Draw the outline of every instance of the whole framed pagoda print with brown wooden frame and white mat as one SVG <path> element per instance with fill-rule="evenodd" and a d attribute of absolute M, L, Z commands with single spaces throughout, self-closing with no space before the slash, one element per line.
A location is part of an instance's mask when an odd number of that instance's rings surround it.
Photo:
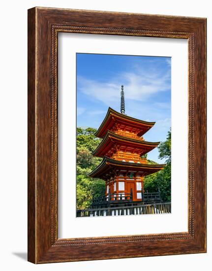
<path fill-rule="evenodd" d="M 206 19 L 28 12 L 28 260 L 206 252 Z"/>

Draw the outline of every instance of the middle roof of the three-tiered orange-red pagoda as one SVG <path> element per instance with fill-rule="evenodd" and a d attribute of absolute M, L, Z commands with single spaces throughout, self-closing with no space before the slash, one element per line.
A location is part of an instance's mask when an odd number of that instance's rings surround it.
<path fill-rule="evenodd" d="M 144 155 L 157 147 L 159 143 L 160 142 L 148 142 L 142 139 L 127 137 L 107 131 L 107 134 L 104 136 L 92 155 L 104 157 L 109 150 L 115 147 L 115 144 L 119 146 L 132 147 L 133 149 L 137 149 L 140 152 L 140 155 Z"/>

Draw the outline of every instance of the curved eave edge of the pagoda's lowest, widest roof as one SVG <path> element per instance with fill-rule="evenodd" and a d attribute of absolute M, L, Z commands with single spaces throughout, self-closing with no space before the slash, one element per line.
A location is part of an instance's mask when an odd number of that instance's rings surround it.
<path fill-rule="evenodd" d="M 107 171 L 110 170 L 111 167 L 115 167 L 117 169 L 128 169 L 128 170 L 137 170 L 137 171 L 143 171 L 144 175 L 149 175 L 151 173 L 155 173 L 161 169 L 164 169 L 166 164 L 155 164 L 155 165 L 149 165 L 149 164 L 137 164 L 137 163 L 130 163 L 130 162 L 123 162 L 114 160 L 108 157 L 104 157 L 102 162 L 88 175 L 90 177 L 99 177 L 102 178 Z M 145 174 L 146 173 L 146 174 Z"/>

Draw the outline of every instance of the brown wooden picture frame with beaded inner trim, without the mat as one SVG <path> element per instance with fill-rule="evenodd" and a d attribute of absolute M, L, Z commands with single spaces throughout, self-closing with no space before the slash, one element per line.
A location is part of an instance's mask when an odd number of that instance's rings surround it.
<path fill-rule="evenodd" d="M 188 40 L 188 232 L 58 238 L 58 33 Z M 206 252 L 206 19 L 34 7 L 28 11 L 28 260 Z"/>

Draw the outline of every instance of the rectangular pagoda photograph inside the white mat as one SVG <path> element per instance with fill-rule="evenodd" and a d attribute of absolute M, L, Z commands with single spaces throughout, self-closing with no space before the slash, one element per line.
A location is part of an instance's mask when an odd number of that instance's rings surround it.
<path fill-rule="evenodd" d="M 76 54 L 76 216 L 171 213 L 171 57 Z"/>

